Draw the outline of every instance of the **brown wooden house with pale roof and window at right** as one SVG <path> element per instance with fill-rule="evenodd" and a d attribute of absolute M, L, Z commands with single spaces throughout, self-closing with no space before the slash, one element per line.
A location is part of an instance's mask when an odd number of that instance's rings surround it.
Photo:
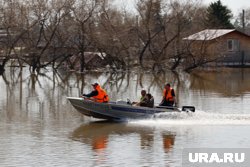
<path fill-rule="evenodd" d="M 238 30 L 206 29 L 183 40 L 188 43 L 191 54 L 206 54 L 207 58 L 215 60 L 213 64 L 233 67 L 250 65 L 250 36 Z"/>

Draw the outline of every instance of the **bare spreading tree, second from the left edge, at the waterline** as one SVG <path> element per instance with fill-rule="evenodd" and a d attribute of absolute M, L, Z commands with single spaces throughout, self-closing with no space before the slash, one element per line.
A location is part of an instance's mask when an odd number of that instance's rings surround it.
<path fill-rule="evenodd" d="M 31 4 L 33 18 L 38 21 L 31 31 L 27 33 L 25 46 L 30 52 L 30 61 L 24 59 L 32 67 L 34 72 L 36 69 L 46 67 L 54 59 L 48 57 L 53 47 L 59 48 L 60 44 L 56 39 L 56 34 L 59 30 L 60 23 L 66 17 L 70 10 L 68 9 L 72 1 L 38 1 Z M 56 57 L 58 58 L 58 57 Z M 41 61 L 47 63 L 42 64 Z"/>

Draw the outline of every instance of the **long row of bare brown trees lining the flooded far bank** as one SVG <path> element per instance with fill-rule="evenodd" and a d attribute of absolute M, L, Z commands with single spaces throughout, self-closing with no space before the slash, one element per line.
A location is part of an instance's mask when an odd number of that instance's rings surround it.
<path fill-rule="evenodd" d="M 207 28 L 234 28 L 231 11 L 220 1 L 204 6 L 200 0 L 137 0 L 136 12 L 113 3 L 0 0 L 1 73 L 10 62 L 32 72 L 48 65 L 74 68 L 72 57 L 83 71 L 86 52 L 105 54 L 105 65 L 114 69 L 190 71 L 215 58 L 193 54 L 184 37 Z"/>

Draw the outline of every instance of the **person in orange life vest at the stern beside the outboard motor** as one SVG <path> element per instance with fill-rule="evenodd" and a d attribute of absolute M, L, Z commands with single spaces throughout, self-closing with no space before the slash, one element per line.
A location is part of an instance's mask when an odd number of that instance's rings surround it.
<path fill-rule="evenodd" d="M 163 98 L 160 106 L 177 106 L 174 89 L 167 83 L 164 87 Z"/>

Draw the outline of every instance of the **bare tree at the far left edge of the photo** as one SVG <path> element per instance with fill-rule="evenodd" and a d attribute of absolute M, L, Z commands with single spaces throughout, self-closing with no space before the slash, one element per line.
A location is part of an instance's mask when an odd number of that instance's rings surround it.
<path fill-rule="evenodd" d="M 22 26 L 20 23 L 20 17 L 25 12 L 25 7 L 18 1 L 1 1 L 0 5 L 0 54 L 2 64 L 0 65 L 0 72 L 4 72 L 6 63 L 15 58 L 21 51 L 19 41 L 23 37 L 23 31 L 20 29 Z M 24 24 L 24 23 L 22 23 Z"/>

